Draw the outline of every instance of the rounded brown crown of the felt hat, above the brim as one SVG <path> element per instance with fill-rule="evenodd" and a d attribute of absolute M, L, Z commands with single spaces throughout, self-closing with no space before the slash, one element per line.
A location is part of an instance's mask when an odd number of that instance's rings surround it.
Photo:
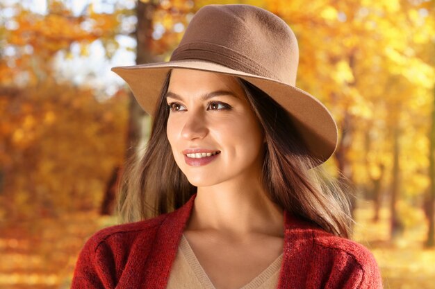
<path fill-rule="evenodd" d="M 272 12 L 208 5 L 190 21 L 172 60 L 205 60 L 295 86 L 299 50 L 293 31 Z"/>

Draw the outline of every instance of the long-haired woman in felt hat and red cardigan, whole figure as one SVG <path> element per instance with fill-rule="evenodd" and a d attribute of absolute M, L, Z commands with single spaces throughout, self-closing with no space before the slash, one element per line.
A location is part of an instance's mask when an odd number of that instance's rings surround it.
<path fill-rule="evenodd" d="M 336 123 L 295 87 L 298 57 L 272 13 L 205 6 L 170 62 L 114 69 L 154 125 L 124 174 L 128 223 L 88 240 L 72 288 L 381 288 L 319 167 Z"/>

